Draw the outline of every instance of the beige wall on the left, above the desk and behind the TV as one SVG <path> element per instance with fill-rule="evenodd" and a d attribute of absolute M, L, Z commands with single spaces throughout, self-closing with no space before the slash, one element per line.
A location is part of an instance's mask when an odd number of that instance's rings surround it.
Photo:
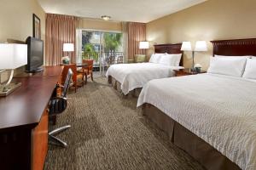
<path fill-rule="evenodd" d="M 26 41 L 32 36 L 32 14 L 41 20 L 41 38 L 45 37 L 45 13 L 37 0 L 1 0 L 0 5 L 0 42 L 7 38 Z M 19 69 L 24 70 L 24 67 Z M 6 80 L 7 73 L 3 73 L 0 82 Z"/>

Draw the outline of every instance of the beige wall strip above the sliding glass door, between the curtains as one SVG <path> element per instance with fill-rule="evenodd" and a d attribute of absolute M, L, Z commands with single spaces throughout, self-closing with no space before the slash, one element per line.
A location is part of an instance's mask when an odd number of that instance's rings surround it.
<path fill-rule="evenodd" d="M 122 24 L 117 21 L 93 20 L 93 19 L 80 19 L 79 28 L 107 30 L 107 31 L 121 31 Z"/>

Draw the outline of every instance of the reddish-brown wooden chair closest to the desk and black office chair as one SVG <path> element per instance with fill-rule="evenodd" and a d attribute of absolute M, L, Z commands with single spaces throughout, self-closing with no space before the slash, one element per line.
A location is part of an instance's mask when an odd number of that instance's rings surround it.
<path fill-rule="evenodd" d="M 76 64 L 70 64 L 70 65 L 64 65 L 64 69 L 62 71 L 61 75 L 61 84 L 63 85 L 65 83 L 65 79 L 67 77 L 68 69 L 71 69 L 73 71 L 73 88 L 75 88 L 75 93 L 77 92 L 78 88 L 78 71 L 77 71 L 77 65 Z"/>

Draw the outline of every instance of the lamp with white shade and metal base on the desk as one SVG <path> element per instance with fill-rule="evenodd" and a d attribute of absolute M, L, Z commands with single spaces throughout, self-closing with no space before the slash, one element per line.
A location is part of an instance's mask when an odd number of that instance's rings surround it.
<path fill-rule="evenodd" d="M 21 82 L 11 83 L 16 68 L 27 64 L 27 45 L 15 43 L 0 44 L 0 72 L 10 70 L 8 82 L 0 85 L 0 96 L 8 94 L 19 88 Z"/>

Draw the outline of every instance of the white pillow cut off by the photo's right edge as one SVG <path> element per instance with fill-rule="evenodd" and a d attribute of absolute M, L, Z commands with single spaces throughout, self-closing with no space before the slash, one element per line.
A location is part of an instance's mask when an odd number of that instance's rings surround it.
<path fill-rule="evenodd" d="M 256 58 L 247 59 L 247 65 L 242 77 L 256 79 Z"/>

